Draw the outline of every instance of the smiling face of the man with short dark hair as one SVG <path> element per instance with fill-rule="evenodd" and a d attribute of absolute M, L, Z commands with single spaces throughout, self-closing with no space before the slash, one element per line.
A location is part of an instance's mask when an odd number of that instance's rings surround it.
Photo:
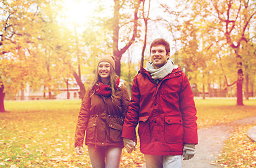
<path fill-rule="evenodd" d="M 166 53 L 165 45 L 155 45 L 151 48 L 151 62 L 155 69 L 159 69 L 166 64 L 169 53 Z"/>

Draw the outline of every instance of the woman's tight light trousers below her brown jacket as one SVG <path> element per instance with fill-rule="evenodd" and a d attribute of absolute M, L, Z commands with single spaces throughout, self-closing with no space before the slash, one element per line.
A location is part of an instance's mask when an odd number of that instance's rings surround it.
<path fill-rule="evenodd" d="M 88 146 L 91 165 L 94 168 L 118 168 L 122 156 L 122 148 Z"/>

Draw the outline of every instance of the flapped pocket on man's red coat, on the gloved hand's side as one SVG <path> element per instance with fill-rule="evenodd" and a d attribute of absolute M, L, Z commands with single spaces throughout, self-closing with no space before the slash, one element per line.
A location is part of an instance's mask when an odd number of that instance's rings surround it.
<path fill-rule="evenodd" d="M 184 137 L 184 128 L 181 118 L 165 116 L 165 141 L 167 144 L 181 143 Z"/>

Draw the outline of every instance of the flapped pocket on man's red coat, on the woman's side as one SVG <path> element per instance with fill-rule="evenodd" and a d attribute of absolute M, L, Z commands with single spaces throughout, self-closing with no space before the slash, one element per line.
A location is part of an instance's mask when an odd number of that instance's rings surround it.
<path fill-rule="evenodd" d="M 139 117 L 138 134 L 142 143 L 149 143 L 151 141 L 151 131 L 149 130 L 148 116 Z"/>

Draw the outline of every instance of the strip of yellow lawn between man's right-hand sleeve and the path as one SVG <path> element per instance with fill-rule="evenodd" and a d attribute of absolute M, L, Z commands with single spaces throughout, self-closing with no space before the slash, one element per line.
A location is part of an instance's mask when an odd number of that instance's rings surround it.
<path fill-rule="evenodd" d="M 245 106 L 236 106 L 236 99 L 196 99 L 198 128 L 256 116 L 256 99 L 243 100 Z"/>

